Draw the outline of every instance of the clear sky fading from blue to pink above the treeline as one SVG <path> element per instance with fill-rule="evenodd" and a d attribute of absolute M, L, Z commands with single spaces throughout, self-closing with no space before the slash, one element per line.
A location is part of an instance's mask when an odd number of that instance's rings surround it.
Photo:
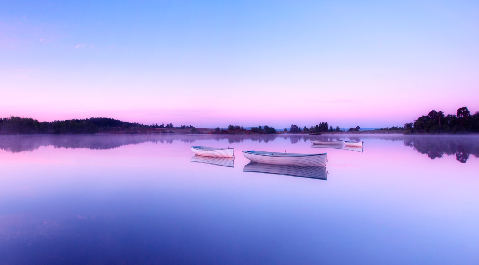
<path fill-rule="evenodd" d="M 479 1 L 2 1 L 0 116 L 402 126 L 479 110 Z"/>

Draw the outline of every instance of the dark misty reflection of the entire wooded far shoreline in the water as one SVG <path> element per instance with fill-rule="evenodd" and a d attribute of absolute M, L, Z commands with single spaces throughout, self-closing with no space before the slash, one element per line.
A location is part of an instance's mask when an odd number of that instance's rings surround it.
<path fill-rule="evenodd" d="M 243 143 L 245 141 L 269 143 L 277 137 L 282 137 L 291 144 L 304 144 L 309 139 L 327 141 L 352 140 L 365 141 L 366 146 L 369 136 L 343 135 L 288 135 L 288 134 L 262 134 L 262 135 L 209 135 L 209 134 L 96 134 L 96 135 L 18 135 L 0 136 L 0 150 L 11 153 L 34 151 L 41 146 L 55 148 L 86 148 L 92 150 L 113 149 L 129 144 L 173 144 L 174 141 L 192 144 L 198 140 L 228 141 L 229 144 Z M 456 160 L 466 163 L 470 157 L 479 158 L 479 137 L 472 136 L 434 136 L 434 135 L 374 135 L 371 139 L 386 141 L 402 141 L 405 146 L 412 147 L 421 154 L 431 159 L 443 158 L 444 155 L 456 155 Z M 303 140 L 303 141 L 301 141 Z M 215 144 L 213 144 L 214 146 Z M 280 144 L 280 143 L 278 143 Z M 308 146 L 309 147 L 309 146 Z"/>

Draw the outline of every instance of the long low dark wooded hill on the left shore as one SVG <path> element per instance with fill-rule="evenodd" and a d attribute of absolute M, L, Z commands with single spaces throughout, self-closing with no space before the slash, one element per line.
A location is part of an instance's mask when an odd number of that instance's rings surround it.
<path fill-rule="evenodd" d="M 111 118 L 72 119 L 39 122 L 32 118 L 10 117 L 0 119 L 0 134 L 92 134 L 123 130 L 136 133 L 151 126 L 119 121 Z"/>

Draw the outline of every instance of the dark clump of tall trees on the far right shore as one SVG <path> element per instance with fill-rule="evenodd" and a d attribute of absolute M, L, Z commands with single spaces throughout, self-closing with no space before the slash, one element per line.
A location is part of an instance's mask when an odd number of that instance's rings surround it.
<path fill-rule="evenodd" d="M 471 115 L 467 107 L 456 115 L 444 115 L 443 111 L 429 111 L 414 122 L 404 124 L 405 134 L 411 133 L 479 133 L 479 111 Z"/>

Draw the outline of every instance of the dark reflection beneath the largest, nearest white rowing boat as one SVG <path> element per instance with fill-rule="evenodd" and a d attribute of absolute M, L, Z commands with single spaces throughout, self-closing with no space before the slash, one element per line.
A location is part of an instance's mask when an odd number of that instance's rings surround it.
<path fill-rule="evenodd" d="M 309 177 L 326 180 L 325 166 L 284 166 L 250 162 L 244 166 L 243 172 L 267 173 L 293 177 Z"/>

